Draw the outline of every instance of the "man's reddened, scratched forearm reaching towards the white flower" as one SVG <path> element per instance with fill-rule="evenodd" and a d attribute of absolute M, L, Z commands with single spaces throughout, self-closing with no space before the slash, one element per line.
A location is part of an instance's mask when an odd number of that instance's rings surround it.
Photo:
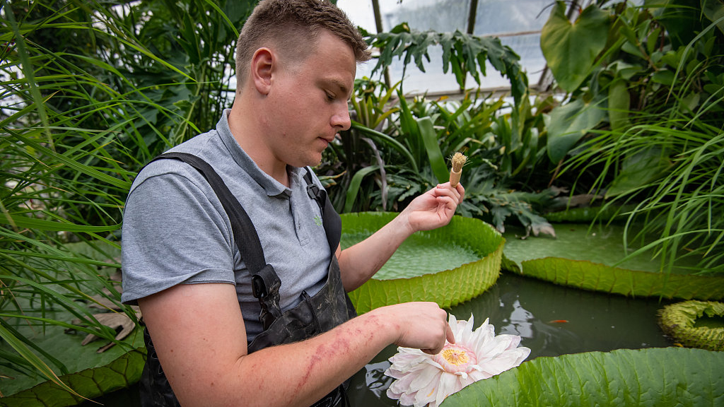
<path fill-rule="evenodd" d="M 310 406 L 397 340 L 394 332 L 371 311 L 311 339 L 240 356 L 216 379 L 169 382 L 182 406 Z"/>

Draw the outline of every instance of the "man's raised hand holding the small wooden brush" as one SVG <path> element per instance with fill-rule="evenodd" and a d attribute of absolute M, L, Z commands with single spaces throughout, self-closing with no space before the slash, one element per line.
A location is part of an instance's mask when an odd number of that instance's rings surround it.
<path fill-rule="evenodd" d="M 452 188 L 450 182 L 439 184 L 413 199 L 400 213 L 400 220 L 406 220 L 411 233 L 445 226 L 450 223 L 464 196 L 463 185 L 458 184 Z"/>

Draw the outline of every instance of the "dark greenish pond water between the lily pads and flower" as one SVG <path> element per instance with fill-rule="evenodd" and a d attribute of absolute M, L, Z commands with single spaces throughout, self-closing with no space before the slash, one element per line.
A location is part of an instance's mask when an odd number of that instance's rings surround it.
<path fill-rule="evenodd" d="M 473 314 L 475 327 L 489 318 L 496 335 L 520 335 L 521 346 L 531 348 L 526 359 L 531 360 L 567 353 L 673 345 L 656 322 L 657 311 L 669 302 L 593 293 L 504 273 L 492 288 L 452 307 L 450 312 L 458 319 L 469 319 Z M 392 379 L 384 376 L 384 370 L 390 366 L 387 358 L 396 351 L 395 346 L 385 348 L 353 376 L 353 406 L 397 406 L 385 394 Z M 139 406 L 137 394 L 138 388 L 133 386 L 97 401 L 109 407 Z"/>

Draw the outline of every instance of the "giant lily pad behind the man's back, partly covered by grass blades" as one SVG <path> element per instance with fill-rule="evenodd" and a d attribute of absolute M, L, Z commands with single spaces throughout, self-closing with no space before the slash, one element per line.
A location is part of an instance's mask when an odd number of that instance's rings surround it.
<path fill-rule="evenodd" d="M 72 250 L 67 259 L 81 259 L 97 266 L 114 261 L 108 257 L 119 256 L 119 249 L 101 242 L 94 242 L 93 248 L 87 243 L 68 245 Z M 101 253 L 101 251 L 103 253 Z M 58 259 L 58 268 L 63 267 Z M 111 278 L 115 270 L 109 268 L 98 269 L 98 274 Z M 80 280 L 80 278 L 79 278 Z M 88 282 L 89 286 L 93 281 Z M 98 280 L 98 284 L 101 280 Z M 43 293 L 56 293 L 60 297 L 66 291 L 54 285 L 48 285 Z M 102 286 L 99 286 L 100 290 Z M 90 290 L 89 293 L 96 292 Z M 101 290 L 108 293 L 107 290 Z M 40 297 L 40 295 L 38 295 Z M 107 298 L 106 298 L 107 297 Z M 33 369 L 25 368 L 20 363 L 20 356 L 15 356 L 14 348 L 9 343 L 0 343 L 0 353 L 7 360 L 18 361 L 12 364 L 14 369 L 4 369 L 0 375 L 0 390 L 4 397 L 0 398 L 0 406 L 75 406 L 83 398 L 96 398 L 105 393 L 118 390 L 137 382 L 143 369 L 145 348 L 141 330 L 127 314 L 118 311 L 119 298 L 114 295 L 97 297 L 97 301 L 65 301 L 60 305 L 51 301 L 39 301 L 34 296 L 25 295 L 16 291 L 14 295 L 17 306 L 22 310 L 22 317 L 14 316 L 12 307 L 8 306 L 3 312 L 4 327 L 13 330 L 15 336 L 27 338 L 36 349 L 42 349 L 36 356 L 39 364 L 46 364 L 48 369 L 54 369 L 62 383 L 72 389 L 61 387 L 54 382 L 46 380 L 47 377 Z M 114 298 L 110 301 L 109 298 Z M 72 304 L 72 306 L 70 306 Z M 64 306 L 62 306 L 64 305 Z M 96 312 L 103 310 L 104 312 Z M 114 342 L 108 339 L 93 340 L 98 333 L 97 328 L 87 327 L 87 324 L 76 322 L 79 316 L 94 318 L 100 324 L 109 327 L 109 333 L 123 327 L 122 333 L 110 335 L 116 337 Z M 92 316 L 91 316 L 92 315 Z M 88 328 L 88 330 L 84 330 Z M 108 335 L 106 335 L 107 337 Z M 59 371 L 59 372 L 58 372 Z"/>

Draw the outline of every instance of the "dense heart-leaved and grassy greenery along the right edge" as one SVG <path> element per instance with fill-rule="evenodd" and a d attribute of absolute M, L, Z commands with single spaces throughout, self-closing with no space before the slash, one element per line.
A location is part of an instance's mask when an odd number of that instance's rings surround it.
<path fill-rule="evenodd" d="M 686 256 L 721 272 L 724 5 L 650 3 L 592 4 L 573 23 L 555 5 L 541 47 L 567 94 L 550 112 L 547 154 L 559 176 L 582 175 L 583 192 L 632 204 L 627 243 L 647 242 L 662 269 Z"/>

